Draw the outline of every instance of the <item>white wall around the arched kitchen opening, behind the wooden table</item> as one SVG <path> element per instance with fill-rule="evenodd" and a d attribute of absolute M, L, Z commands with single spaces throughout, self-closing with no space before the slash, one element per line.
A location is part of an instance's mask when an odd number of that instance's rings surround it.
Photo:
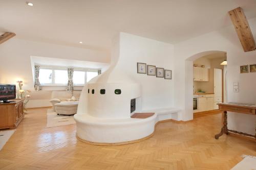
<path fill-rule="evenodd" d="M 250 19 L 249 24 L 255 30 L 256 18 Z M 254 32 L 252 34 L 256 37 Z M 193 60 L 202 57 L 206 51 L 227 52 L 227 101 L 256 104 L 256 74 L 240 74 L 240 65 L 256 63 L 256 51 L 245 53 L 233 26 L 228 26 L 175 44 L 175 105 L 183 108 L 183 120 L 193 119 L 190 107 L 193 102 L 193 75 L 190 73 Z M 233 82 L 239 82 L 238 93 L 232 90 Z M 255 120 L 253 115 L 231 113 L 228 114 L 228 128 L 255 134 Z"/>

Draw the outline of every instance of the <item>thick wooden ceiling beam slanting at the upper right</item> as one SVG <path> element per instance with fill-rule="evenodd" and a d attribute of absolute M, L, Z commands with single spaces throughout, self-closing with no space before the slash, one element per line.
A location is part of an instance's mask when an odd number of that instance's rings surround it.
<path fill-rule="evenodd" d="M 231 21 L 233 22 L 234 28 L 237 31 L 240 42 L 245 52 L 256 50 L 255 41 L 251 34 L 246 16 L 243 9 L 238 7 L 228 12 Z"/>

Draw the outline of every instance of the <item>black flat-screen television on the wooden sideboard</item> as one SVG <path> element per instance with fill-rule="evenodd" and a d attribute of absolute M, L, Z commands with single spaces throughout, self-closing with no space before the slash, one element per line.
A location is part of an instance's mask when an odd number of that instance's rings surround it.
<path fill-rule="evenodd" d="M 0 101 L 2 103 L 10 103 L 8 100 L 16 99 L 15 84 L 0 84 Z"/>

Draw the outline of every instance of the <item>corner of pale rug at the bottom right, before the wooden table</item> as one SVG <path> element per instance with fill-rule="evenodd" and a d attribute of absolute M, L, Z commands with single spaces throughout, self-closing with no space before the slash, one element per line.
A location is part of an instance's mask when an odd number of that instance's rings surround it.
<path fill-rule="evenodd" d="M 256 170 L 256 157 L 250 155 L 242 155 L 244 158 L 236 164 L 231 170 Z"/>

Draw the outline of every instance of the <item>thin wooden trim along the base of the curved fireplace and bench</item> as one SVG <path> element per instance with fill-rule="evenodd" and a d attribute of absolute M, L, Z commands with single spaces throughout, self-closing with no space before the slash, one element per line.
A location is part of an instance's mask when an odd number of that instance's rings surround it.
<path fill-rule="evenodd" d="M 76 138 L 84 143 L 89 143 L 89 144 L 93 144 L 93 145 L 100 145 L 100 146 L 115 146 L 115 145 L 123 145 L 123 144 L 131 144 L 131 143 L 137 143 L 143 140 L 146 140 L 148 138 L 151 138 L 156 131 L 156 127 L 158 124 L 160 123 L 165 123 L 165 122 L 175 122 L 175 123 L 188 123 L 188 122 L 192 122 L 193 120 L 188 120 L 188 121 L 183 121 L 183 120 L 174 120 L 174 119 L 166 119 L 166 120 L 160 120 L 155 124 L 155 128 L 154 128 L 154 132 L 148 136 L 145 136 L 143 138 L 140 139 L 136 139 L 136 140 L 131 140 L 131 141 L 124 141 L 124 142 L 116 142 L 116 143 L 105 143 L 105 142 L 92 142 L 92 141 L 88 141 L 88 140 L 84 140 L 81 139 L 80 137 L 78 137 L 76 135 Z"/>

